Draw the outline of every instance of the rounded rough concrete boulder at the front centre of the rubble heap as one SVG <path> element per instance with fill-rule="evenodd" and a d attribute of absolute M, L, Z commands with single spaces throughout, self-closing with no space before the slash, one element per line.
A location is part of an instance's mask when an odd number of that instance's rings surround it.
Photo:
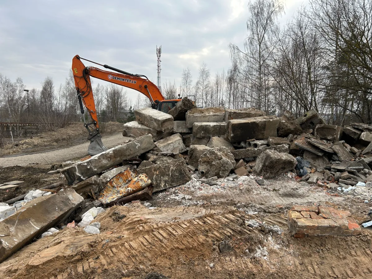
<path fill-rule="evenodd" d="M 198 170 L 206 178 L 226 177 L 235 167 L 234 156 L 226 147 L 208 149 L 200 156 L 198 163 Z"/>

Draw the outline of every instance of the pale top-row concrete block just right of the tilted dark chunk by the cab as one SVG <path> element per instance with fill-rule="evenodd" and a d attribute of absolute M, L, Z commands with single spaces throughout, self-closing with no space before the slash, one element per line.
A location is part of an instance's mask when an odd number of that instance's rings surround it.
<path fill-rule="evenodd" d="M 192 128 L 194 122 L 224 122 L 224 108 L 197 108 L 190 109 L 186 116 L 186 125 Z"/>

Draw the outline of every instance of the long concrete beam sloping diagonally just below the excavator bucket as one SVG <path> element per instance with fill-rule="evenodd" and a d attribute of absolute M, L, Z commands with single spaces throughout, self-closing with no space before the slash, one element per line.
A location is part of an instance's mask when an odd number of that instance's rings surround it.
<path fill-rule="evenodd" d="M 67 180 L 68 185 L 83 181 L 104 170 L 109 169 L 122 160 L 137 157 L 138 155 L 150 151 L 155 147 L 152 135 L 144 135 L 126 144 L 118 145 L 92 158 L 73 164 L 61 171 Z"/>

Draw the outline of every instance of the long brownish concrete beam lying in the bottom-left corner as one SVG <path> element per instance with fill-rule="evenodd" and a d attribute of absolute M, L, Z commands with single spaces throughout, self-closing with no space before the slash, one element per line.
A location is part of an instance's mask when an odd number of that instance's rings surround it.
<path fill-rule="evenodd" d="M 42 196 L 22 206 L 0 222 L 0 262 L 59 224 L 73 212 L 83 198 L 73 189 Z"/>

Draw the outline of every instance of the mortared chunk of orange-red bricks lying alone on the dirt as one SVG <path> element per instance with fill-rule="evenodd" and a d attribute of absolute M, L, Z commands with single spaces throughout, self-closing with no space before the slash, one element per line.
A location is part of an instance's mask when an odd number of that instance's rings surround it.
<path fill-rule="evenodd" d="M 327 206 L 296 205 L 288 212 L 288 227 L 292 235 L 358 235 L 360 226 L 347 210 Z"/>

